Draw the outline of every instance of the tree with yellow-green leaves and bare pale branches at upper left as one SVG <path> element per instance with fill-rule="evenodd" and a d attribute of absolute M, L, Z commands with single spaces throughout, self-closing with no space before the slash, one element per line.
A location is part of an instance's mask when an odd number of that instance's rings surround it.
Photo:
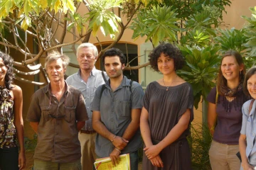
<path fill-rule="evenodd" d="M 40 64 L 41 57 L 47 55 L 51 50 L 62 51 L 62 47 L 72 45 L 75 53 L 75 42 L 87 42 L 90 34 L 96 36 L 99 30 L 107 36 L 118 35 L 118 38 L 109 46 L 119 41 L 127 28 L 120 20 L 120 13 L 114 13 L 112 9 L 122 8 L 121 0 L 3 0 L 0 1 L 0 45 L 6 52 L 14 49 L 23 55 L 22 62 L 14 62 L 14 66 L 23 67 L 30 72 L 21 72 L 14 69 L 16 79 L 32 84 L 43 85 L 43 82 L 28 81 L 21 79 L 18 74 L 36 75 L 43 73 L 48 83 L 46 72 Z M 146 3 L 144 1 L 144 3 Z M 139 4 L 135 4 L 131 17 L 137 11 Z M 82 15 L 76 11 L 79 8 L 87 9 Z M 118 29 L 122 26 L 121 29 Z M 119 32 L 120 30 L 120 32 Z M 9 36 L 6 36 L 8 32 Z M 56 36 L 59 34 L 58 36 Z M 64 42 L 66 36 L 73 36 L 73 41 Z M 28 48 L 29 40 L 38 50 L 32 51 Z M 31 42 L 30 42 L 31 43 Z M 108 47 L 108 48 L 109 48 Z M 35 47 L 36 48 L 36 47 Z M 107 49 L 106 49 L 107 50 Z M 39 64 L 36 64 L 38 62 Z M 71 64 L 78 67 L 75 64 Z"/>

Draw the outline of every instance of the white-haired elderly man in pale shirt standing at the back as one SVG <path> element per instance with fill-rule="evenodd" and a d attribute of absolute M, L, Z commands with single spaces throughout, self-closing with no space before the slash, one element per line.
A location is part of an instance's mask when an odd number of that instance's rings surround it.
<path fill-rule="evenodd" d="M 86 110 L 89 120 L 85 122 L 85 126 L 80 130 L 78 139 L 80 140 L 82 152 L 82 169 L 92 170 L 93 163 L 96 159 L 95 154 L 95 137 L 96 132 L 92 129 L 92 112 L 90 106 L 95 96 L 95 91 L 98 86 L 105 84 L 107 74 L 95 68 L 98 51 L 95 45 L 91 43 L 82 43 L 77 49 L 77 60 L 80 69 L 77 73 L 66 79 L 68 85 L 82 91 L 85 98 Z"/>

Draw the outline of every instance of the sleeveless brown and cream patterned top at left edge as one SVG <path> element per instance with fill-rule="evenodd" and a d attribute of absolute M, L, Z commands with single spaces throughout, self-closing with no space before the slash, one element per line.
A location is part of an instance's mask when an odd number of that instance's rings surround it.
<path fill-rule="evenodd" d="M 0 148 L 17 146 L 13 106 L 10 91 L 0 87 Z"/>

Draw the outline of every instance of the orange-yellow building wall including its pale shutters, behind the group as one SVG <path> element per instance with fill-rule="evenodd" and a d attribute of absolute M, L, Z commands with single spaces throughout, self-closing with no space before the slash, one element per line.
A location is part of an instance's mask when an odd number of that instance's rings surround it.
<path fill-rule="evenodd" d="M 240 16 L 245 15 L 245 16 L 250 16 L 250 6 L 256 6 L 256 1 L 255 0 L 245 0 L 245 1 L 238 1 L 238 0 L 233 0 L 231 6 L 226 7 L 227 13 L 223 13 L 223 21 L 225 23 L 225 26 L 223 28 L 237 28 L 240 29 L 245 23 L 245 20 L 241 18 Z M 81 15 L 84 15 L 86 10 L 84 8 L 78 8 L 78 13 Z M 53 26 L 54 28 L 54 26 Z M 60 37 L 62 33 L 62 28 L 58 28 L 57 36 Z M 120 42 L 123 43 L 131 43 L 134 45 L 138 46 L 138 55 L 145 55 L 144 57 L 139 58 L 139 64 L 144 64 L 147 62 L 147 55 L 149 52 L 153 49 L 152 45 L 150 42 L 144 42 L 146 38 L 138 38 L 137 40 L 132 40 L 132 30 L 126 29 L 124 30 L 124 35 L 122 36 Z M 98 39 L 100 42 L 112 42 L 112 39 L 107 36 L 105 37 L 100 33 L 100 31 L 97 33 Z M 73 35 L 68 35 L 65 38 L 65 42 L 72 42 L 73 41 Z M 93 44 L 98 44 L 97 38 L 93 37 L 91 35 L 89 42 Z M 77 46 L 81 42 L 77 42 Z M 70 46 L 64 47 L 65 52 L 69 55 L 71 62 L 77 63 L 75 55 L 73 54 L 73 51 L 71 50 Z M 97 62 L 97 66 L 100 64 Z M 67 74 L 71 74 L 73 72 L 77 72 L 78 69 L 68 69 Z M 145 67 L 142 69 L 139 69 L 139 83 L 142 84 L 142 86 L 146 87 L 149 82 L 154 81 L 156 79 L 159 79 L 161 77 L 161 74 L 152 72 L 150 67 Z M 33 78 L 31 78 L 33 79 Z M 29 89 L 33 89 L 31 85 L 24 84 L 24 83 L 18 83 L 19 86 L 23 89 L 23 118 L 26 118 L 26 112 L 28 110 L 29 106 L 29 101 L 31 100 L 31 95 L 33 94 L 33 90 L 31 91 L 26 91 L 28 89 L 27 87 L 29 86 Z M 196 122 L 201 122 L 202 118 L 202 106 L 201 103 L 199 104 L 198 110 L 194 111 L 195 114 L 195 121 Z M 33 134 L 33 131 L 31 130 L 30 126 L 28 123 L 25 121 L 25 136 L 26 137 L 31 137 Z"/>

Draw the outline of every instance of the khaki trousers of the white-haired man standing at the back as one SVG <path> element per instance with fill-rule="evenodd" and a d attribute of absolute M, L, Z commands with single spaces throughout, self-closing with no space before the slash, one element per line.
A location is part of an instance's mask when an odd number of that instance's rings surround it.
<path fill-rule="evenodd" d="M 97 133 L 87 134 L 78 133 L 78 140 L 81 145 L 81 164 L 82 170 L 92 170 L 94 166 L 95 159 L 97 156 L 95 154 L 95 140 Z"/>

